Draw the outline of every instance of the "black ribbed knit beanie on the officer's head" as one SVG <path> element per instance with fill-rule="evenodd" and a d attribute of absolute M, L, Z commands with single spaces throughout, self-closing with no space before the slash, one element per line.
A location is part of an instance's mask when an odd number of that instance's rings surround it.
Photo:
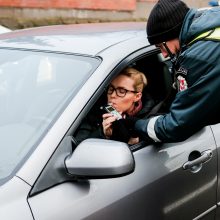
<path fill-rule="evenodd" d="M 159 44 L 179 37 L 187 5 L 180 0 L 159 0 L 147 21 L 150 44 Z"/>

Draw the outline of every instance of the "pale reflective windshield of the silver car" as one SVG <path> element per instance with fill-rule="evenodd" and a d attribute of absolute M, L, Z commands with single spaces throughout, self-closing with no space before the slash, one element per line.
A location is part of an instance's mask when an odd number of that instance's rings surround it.
<path fill-rule="evenodd" d="M 0 182 L 37 145 L 100 60 L 0 50 Z"/>

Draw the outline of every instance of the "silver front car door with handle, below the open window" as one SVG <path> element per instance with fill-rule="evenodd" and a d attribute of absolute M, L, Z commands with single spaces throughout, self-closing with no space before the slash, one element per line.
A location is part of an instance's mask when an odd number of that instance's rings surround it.
<path fill-rule="evenodd" d="M 217 155 L 210 127 L 181 143 L 136 149 L 133 156 L 135 170 L 128 175 L 69 177 L 30 195 L 34 218 L 214 219 Z"/>

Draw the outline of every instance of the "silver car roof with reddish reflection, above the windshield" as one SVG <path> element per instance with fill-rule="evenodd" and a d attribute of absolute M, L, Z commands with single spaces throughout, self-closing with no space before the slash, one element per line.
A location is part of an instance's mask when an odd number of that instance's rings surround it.
<path fill-rule="evenodd" d="M 60 51 L 95 56 L 120 42 L 140 35 L 146 37 L 145 28 L 145 22 L 36 27 L 2 34 L 0 36 L 0 47 Z"/>

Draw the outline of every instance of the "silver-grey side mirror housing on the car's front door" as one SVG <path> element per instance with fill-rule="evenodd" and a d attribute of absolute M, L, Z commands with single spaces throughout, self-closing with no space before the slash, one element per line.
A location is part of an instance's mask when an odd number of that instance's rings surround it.
<path fill-rule="evenodd" d="M 126 143 L 87 139 L 66 158 L 68 173 L 83 178 L 112 178 L 134 171 L 134 158 Z"/>

